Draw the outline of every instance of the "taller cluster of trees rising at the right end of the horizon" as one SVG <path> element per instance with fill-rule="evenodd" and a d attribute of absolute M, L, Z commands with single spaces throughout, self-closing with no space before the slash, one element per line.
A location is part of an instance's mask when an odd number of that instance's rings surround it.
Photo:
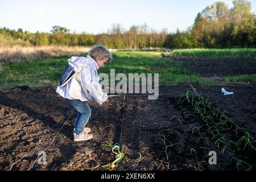
<path fill-rule="evenodd" d="M 210 11 L 215 9 L 213 15 Z M 233 1 L 228 9 L 224 2 L 216 2 L 197 14 L 193 26 L 187 31 L 168 34 L 164 47 L 186 48 L 241 48 L 256 46 L 256 15 L 251 3 Z"/>

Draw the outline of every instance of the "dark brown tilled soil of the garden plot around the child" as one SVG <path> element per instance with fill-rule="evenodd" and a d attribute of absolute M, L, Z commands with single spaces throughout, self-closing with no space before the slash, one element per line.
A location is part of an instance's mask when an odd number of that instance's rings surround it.
<path fill-rule="evenodd" d="M 209 97 L 214 106 L 228 111 L 236 118 L 237 125 L 249 129 L 250 135 L 255 138 L 256 85 L 224 86 L 226 90 L 234 92 L 233 96 L 223 96 L 221 88 L 196 87 L 196 90 Z M 160 86 L 159 89 L 159 93 L 164 95 L 159 96 L 158 100 L 127 94 L 124 102 L 123 97 L 110 98 L 109 104 L 101 106 L 90 102 L 92 117 L 88 127 L 91 127 L 94 138 L 88 142 L 73 142 L 72 131 L 77 114 L 73 113 L 46 150 L 47 164 L 39 165 L 36 162 L 32 170 L 67 169 L 71 163 L 80 165 L 80 169 L 105 170 L 98 166 L 113 162 L 115 156 L 102 144 L 119 143 L 122 117 L 121 150 L 126 160 L 121 162 L 119 170 L 236 169 L 236 166 L 228 163 L 228 156 L 220 154 L 217 148 L 204 142 L 197 143 L 191 127 L 201 127 L 203 123 L 188 121 L 174 107 L 180 94 L 192 90 L 191 87 L 182 84 Z M 0 92 L 0 170 L 9 170 L 14 162 L 17 163 L 13 170 L 30 168 L 38 152 L 51 143 L 71 110 L 52 86 L 20 86 Z M 210 150 L 217 152 L 217 165 L 208 164 Z M 83 159 L 87 157 L 86 152 L 91 159 L 88 162 L 84 160 L 81 166 L 81 161 L 77 162 L 75 158 L 83 152 Z M 255 169 L 255 154 L 247 155 Z"/>

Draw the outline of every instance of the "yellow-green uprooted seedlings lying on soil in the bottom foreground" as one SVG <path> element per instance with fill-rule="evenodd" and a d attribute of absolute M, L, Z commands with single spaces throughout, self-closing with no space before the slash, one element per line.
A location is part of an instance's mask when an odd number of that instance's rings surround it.
<path fill-rule="evenodd" d="M 102 167 L 110 166 L 110 168 L 108 168 L 108 170 L 113 171 L 113 169 L 117 169 L 118 163 L 121 162 L 121 160 L 123 159 L 123 156 L 125 154 L 123 154 L 123 152 L 120 151 L 120 147 L 118 146 L 118 143 L 115 143 L 113 146 L 109 143 L 103 144 L 103 145 L 112 149 L 112 153 L 115 154 L 115 160 L 112 163 L 106 164 Z"/>

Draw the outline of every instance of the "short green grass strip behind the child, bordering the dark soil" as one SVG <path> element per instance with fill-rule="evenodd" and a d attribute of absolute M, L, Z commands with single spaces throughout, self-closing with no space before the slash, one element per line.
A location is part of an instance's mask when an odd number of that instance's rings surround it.
<path fill-rule="evenodd" d="M 0 89 L 13 86 L 48 86 L 56 85 L 67 60 L 74 55 L 51 57 L 48 59 L 31 59 L 18 62 L 1 62 Z M 86 56 L 86 53 L 76 56 Z M 162 57 L 160 52 L 122 51 L 113 52 L 114 59 L 98 70 L 98 74 L 107 73 L 110 78 L 110 69 L 115 73 L 159 73 L 159 84 L 179 84 L 192 82 L 195 85 L 210 86 L 216 84 L 212 78 L 200 77 L 198 74 L 189 74 L 181 64 L 174 60 Z M 251 81 L 255 76 L 226 77 L 225 81 Z M 118 82 L 118 81 L 117 81 Z"/>

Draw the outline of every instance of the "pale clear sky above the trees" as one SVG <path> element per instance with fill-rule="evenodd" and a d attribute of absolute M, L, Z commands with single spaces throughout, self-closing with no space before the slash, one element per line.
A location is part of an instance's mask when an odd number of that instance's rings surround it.
<path fill-rule="evenodd" d="M 217 1 L 221 0 L 1 0 L 0 27 L 49 32 L 59 25 L 71 32 L 98 34 L 113 23 L 120 23 L 126 30 L 147 23 L 157 31 L 167 28 L 172 32 L 187 29 L 197 13 Z M 222 0 L 229 8 L 232 1 Z M 250 2 L 255 12 L 256 1 Z"/>

